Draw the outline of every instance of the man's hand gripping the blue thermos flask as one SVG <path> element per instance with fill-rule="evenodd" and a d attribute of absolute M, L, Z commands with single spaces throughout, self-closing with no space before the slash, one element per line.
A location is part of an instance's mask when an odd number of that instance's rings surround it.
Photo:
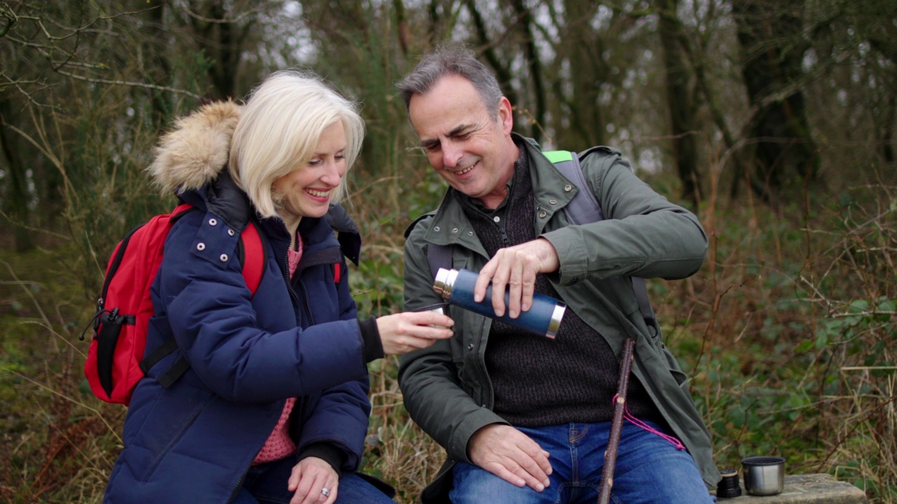
<path fill-rule="evenodd" d="M 474 300 L 480 302 L 486 296 L 486 287 L 492 282 L 492 308 L 495 315 L 504 315 L 504 292 L 510 286 L 508 315 L 517 318 L 521 311 L 533 305 L 536 291 L 536 274 L 551 273 L 561 266 L 557 250 L 552 242 L 537 238 L 509 248 L 500 248 L 490 259 L 474 287 Z"/>

